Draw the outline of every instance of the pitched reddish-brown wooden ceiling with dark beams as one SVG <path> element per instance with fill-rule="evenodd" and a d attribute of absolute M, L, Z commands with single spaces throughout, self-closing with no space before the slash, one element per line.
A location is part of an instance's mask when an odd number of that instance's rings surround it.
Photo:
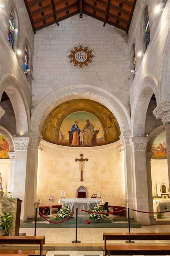
<path fill-rule="evenodd" d="M 136 0 L 24 0 L 34 33 L 75 14 L 95 19 L 128 32 Z"/>

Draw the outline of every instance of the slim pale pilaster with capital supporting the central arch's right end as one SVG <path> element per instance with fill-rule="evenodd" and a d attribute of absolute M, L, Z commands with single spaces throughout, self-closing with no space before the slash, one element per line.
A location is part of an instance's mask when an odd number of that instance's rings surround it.
<path fill-rule="evenodd" d="M 126 186 L 126 202 L 127 208 L 133 208 L 133 176 L 132 176 L 132 156 L 131 156 L 131 131 L 124 131 L 120 139 L 123 144 L 124 151 L 124 172 L 125 172 L 125 186 Z M 130 211 L 130 216 L 134 217 L 133 211 Z"/>

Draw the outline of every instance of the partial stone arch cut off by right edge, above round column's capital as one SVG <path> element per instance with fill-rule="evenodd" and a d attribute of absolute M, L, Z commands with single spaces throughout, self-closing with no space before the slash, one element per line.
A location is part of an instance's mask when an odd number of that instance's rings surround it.
<path fill-rule="evenodd" d="M 160 75 L 159 75 L 159 100 L 170 98 L 170 31 L 166 37 L 165 46 L 161 59 Z"/>

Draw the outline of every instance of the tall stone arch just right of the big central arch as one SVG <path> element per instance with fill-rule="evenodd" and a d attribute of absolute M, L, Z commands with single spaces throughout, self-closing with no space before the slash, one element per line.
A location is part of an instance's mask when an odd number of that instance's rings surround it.
<path fill-rule="evenodd" d="M 154 78 L 151 76 L 146 76 L 141 81 L 134 99 L 131 118 L 132 136 L 138 136 L 138 134 L 145 136 L 146 113 L 148 104 L 153 94 L 155 94 L 157 101 L 158 96 L 156 80 L 154 80 Z"/>

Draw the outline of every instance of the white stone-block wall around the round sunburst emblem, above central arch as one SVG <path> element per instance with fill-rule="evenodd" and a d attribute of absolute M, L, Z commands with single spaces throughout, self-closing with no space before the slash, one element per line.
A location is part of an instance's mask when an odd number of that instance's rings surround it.
<path fill-rule="evenodd" d="M 72 68 L 66 59 L 69 48 L 88 44 L 94 64 L 83 70 Z M 95 85 L 116 95 L 129 110 L 129 59 L 126 32 L 79 14 L 36 32 L 34 44 L 32 108 L 53 90 L 72 84 Z"/>

